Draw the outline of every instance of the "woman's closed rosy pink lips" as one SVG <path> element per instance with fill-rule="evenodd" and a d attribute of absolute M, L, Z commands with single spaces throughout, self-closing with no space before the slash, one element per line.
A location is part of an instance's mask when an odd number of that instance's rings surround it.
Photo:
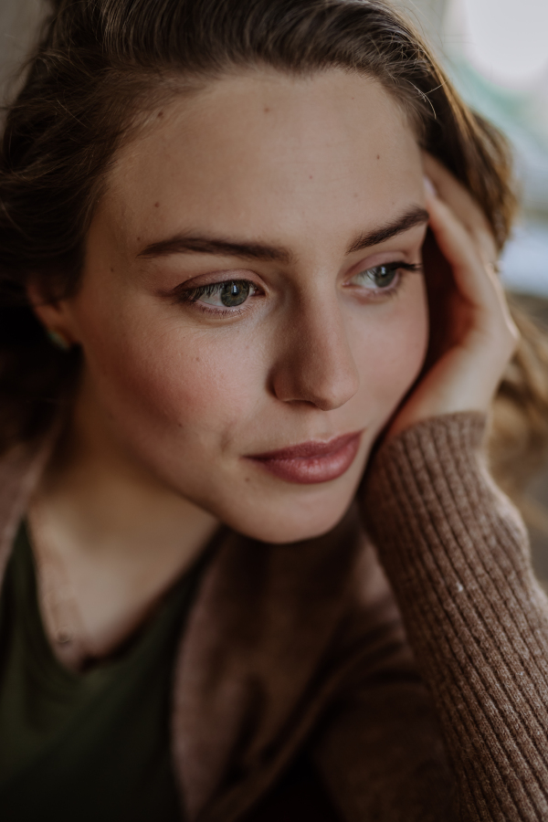
<path fill-rule="evenodd" d="M 343 434 L 328 442 L 302 442 L 248 457 L 279 479 L 301 485 L 329 482 L 344 474 L 353 464 L 362 432 Z"/>

